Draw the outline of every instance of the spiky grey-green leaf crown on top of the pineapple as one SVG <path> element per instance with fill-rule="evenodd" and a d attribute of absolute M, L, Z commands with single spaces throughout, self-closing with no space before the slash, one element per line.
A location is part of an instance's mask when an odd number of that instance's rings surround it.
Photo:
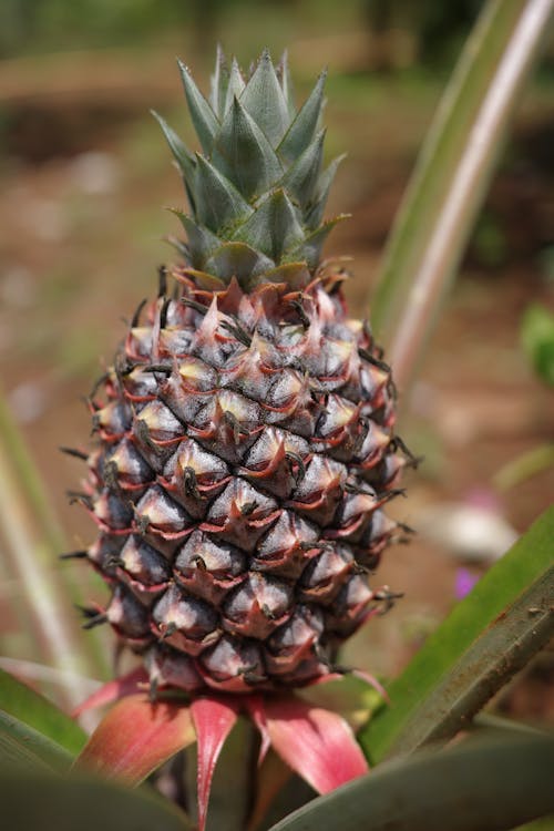
<path fill-rule="evenodd" d="M 174 242 L 199 284 L 243 288 L 306 284 L 339 215 L 322 222 L 343 156 L 322 170 L 322 72 L 304 105 L 294 103 L 287 57 L 264 50 L 248 76 L 217 51 L 208 99 L 178 62 L 202 153 L 192 153 L 156 113 L 183 176 L 191 214 L 175 209 L 187 236 Z"/>

